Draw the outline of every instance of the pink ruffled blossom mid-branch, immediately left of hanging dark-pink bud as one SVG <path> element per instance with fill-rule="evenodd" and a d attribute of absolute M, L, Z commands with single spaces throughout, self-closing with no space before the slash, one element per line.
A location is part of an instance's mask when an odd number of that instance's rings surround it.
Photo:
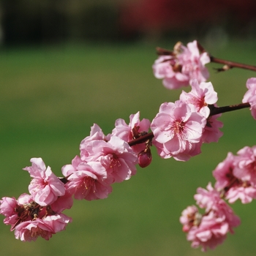
<path fill-rule="evenodd" d="M 80 143 L 80 159 L 87 163 L 99 162 L 106 170 L 105 181 L 108 184 L 128 180 L 135 175 L 135 165 L 138 164 L 138 154 L 125 140 L 112 134 L 103 135 L 95 124 L 91 127 L 90 136 Z"/>

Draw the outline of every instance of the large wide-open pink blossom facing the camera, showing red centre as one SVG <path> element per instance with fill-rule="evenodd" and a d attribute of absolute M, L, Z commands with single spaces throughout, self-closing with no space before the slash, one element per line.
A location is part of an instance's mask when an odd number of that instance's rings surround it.
<path fill-rule="evenodd" d="M 193 105 L 165 102 L 151 123 L 153 144 L 162 158 L 187 161 L 200 154 L 201 137 L 206 118 Z"/>

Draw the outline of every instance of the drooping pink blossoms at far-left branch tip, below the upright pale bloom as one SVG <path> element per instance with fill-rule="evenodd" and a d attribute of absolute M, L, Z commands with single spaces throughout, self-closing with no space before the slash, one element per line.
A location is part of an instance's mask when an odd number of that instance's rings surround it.
<path fill-rule="evenodd" d="M 36 241 L 38 236 L 49 240 L 72 221 L 65 214 L 56 214 L 50 206 L 40 206 L 28 194 L 20 195 L 18 200 L 3 197 L 0 200 L 0 214 L 6 217 L 4 223 L 12 226 L 15 238 L 21 241 Z"/>

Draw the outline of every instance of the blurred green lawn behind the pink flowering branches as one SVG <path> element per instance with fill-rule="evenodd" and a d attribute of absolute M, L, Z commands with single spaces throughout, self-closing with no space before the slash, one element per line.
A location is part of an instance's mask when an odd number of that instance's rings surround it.
<path fill-rule="evenodd" d="M 181 90 L 168 91 L 152 75 L 155 46 L 160 45 L 59 45 L 10 48 L 0 51 L 0 197 L 28 192 L 31 157 L 42 157 L 57 176 L 61 167 L 79 154 L 80 141 L 97 123 L 105 134 L 117 118 L 129 121 L 140 111 L 152 119 L 162 102 L 178 99 Z M 225 47 L 208 49 L 222 59 L 256 64 L 252 40 L 233 40 Z M 210 80 L 218 92 L 218 105 L 241 102 L 246 80 L 254 72 L 231 69 Z M 181 231 L 181 211 L 195 203 L 197 187 L 214 182 L 211 171 L 225 159 L 256 143 L 256 122 L 249 110 L 225 113 L 224 136 L 219 143 L 203 145 L 203 153 L 176 162 L 160 159 L 153 150 L 152 164 L 129 181 L 113 185 L 105 200 L 76 200 L 65 213 L 73 221 L 50 241 L 38 238 L 23 243 L 0 226 L 1 255 L 203 255 L 192 249 Z M 206 255 L 255 255 L 255 202 L 233 205 L 241 217 L 236 234 Z M 4 217 L 1 216 L 1 220 Z"/>

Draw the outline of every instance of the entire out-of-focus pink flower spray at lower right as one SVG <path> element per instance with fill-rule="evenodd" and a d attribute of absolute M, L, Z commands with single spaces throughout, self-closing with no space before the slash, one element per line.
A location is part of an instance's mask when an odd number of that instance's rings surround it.
<path fill-rule="evenodd" d="M 238 226 L 240 220 L 225 200 L 234 203 L 240 199 L 241 203 L 250 203 L 256 199 L 255 167 L 256 146 L 245 146 L 236 156 L 229 152 L 213 171 L 217 180 L 214 188 L 208 184 L 208 191 L 197 189 L 195 200 L 200 208 L 206 208 L 205 214 L 200 214 L 197 207 L 189 206 L 180 218 L 192 247 L 202 246 L 203 251 L 207 247 L 214 249 L 225 240 L 228 232 L 233 233 L 233 227 Z"/>

